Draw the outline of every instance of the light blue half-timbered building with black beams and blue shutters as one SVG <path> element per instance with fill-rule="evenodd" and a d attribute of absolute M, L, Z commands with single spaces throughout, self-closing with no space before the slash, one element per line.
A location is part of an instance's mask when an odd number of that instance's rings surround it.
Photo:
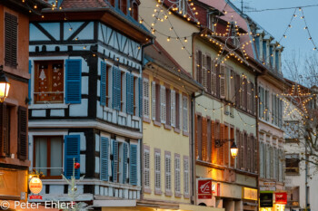
<path fill-rule="evenodd" d="M 30 23 L 29 158 L 44 199 L 135 206 L 140 198 L 143 49 L 138 0 L 64 0 Z M 121 200 L 104 200 L 121 199 Z"/>

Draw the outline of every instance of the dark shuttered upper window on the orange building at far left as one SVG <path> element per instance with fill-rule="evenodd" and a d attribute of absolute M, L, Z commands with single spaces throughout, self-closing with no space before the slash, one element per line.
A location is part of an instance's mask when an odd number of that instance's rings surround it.
<path fill-rule="evenodd" d="M 5 13 L 5 65 L 16 68 L 17 17 Z"/>

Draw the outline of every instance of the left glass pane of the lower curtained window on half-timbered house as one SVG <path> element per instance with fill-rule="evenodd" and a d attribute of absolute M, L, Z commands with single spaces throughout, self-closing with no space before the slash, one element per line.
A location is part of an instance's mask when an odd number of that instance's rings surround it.
<path fill-rule="evenodd" d="M 35 138 L 35 170 L 39 173 L 43 172 L 47 175 L 47 139 L 36 137 Z"/>

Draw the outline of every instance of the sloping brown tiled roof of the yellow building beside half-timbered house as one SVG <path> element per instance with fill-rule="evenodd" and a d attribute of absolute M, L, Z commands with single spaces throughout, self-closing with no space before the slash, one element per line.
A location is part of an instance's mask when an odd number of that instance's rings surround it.
<path fill-rule="evenodd" d="M 204 89 L 200 83 L 194 81 L 189 72 L 184 71 L 184 69 L 177 62 L 175 62 L 174 58 L 167 53 L 159 43 L 154 42 L 153 45 L 145 47 L 144 54 L 145 59 L 148 60 L 148 62 L 153 62 L 158 66 L 161 66 L 166 71 L 177 75 L 182 80 L 191 83 L 200 90 Z"/>

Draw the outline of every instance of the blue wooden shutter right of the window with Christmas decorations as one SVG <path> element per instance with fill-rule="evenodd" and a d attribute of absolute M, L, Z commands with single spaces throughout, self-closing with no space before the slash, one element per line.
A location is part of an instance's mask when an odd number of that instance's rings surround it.
<path fill-rule="evenodd" d="M 65 103 L 81 103 L 82 60 L 66 60 Z"/>

